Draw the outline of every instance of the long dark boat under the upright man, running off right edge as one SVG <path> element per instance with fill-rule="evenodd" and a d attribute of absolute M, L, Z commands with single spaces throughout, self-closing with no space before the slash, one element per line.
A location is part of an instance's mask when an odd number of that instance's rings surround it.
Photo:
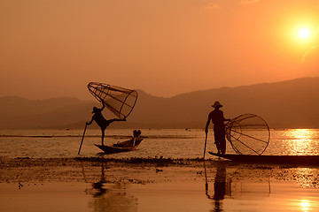
<path fill-rule="evenodd" d="M 319 165 L 319 155 L 232 155 L 208 152 L 211 155 L 241 163 L 272 163 L 291 165 Z"/>

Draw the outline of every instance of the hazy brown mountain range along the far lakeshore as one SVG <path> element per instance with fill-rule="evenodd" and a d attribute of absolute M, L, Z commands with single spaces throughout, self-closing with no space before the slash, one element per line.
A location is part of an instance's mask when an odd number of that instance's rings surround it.
<path fill-rule="evenodd" d="M 225 117 L 254 113 L 271 128 L 319 128 L 319 78 L 293 79 L 243 87 L 195 91 L 171 98 L 138 91 L 136 108 L 125 128 L 204 128 L 211 105 L 220 101 Z M 100 104 L 74 98 L 27 100 L 0 98 L 0 128 L 83 128 L 92 107 Z M 113 114 L 105 110 L 106 118 Z"/>

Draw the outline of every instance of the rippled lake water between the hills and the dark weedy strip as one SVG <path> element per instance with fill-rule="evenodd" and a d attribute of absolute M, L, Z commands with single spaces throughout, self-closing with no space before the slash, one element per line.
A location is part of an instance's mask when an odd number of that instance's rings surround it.
<path fill-rule="evenodd" d="M 205 133 L 200 129 L 142 129 L 144 140 L 136 151 L 108 157 L 197 158 L 203 156 Z M 258 131 L 254 132 L 258 135 Z M 0 130 L 0 156 L 5 157 L 74 157 L 82 140 L 83 130 Z M 133 135 L 129 129 L 107 129 L 105 145 L 127 140 Z M 100 153 L 94 144 L 101 143 L 97 129 L 87 129 L 81 156 Z M 263 155 L 319 155 L 318 129 L 271 130 L 268 148 Z M 214 134 L 208 134 L 207 151 L 216 152 Z M 227 153 L 234 153 L 230 143 Z M 211 155 L 206 154 L 207 157 Z"/>

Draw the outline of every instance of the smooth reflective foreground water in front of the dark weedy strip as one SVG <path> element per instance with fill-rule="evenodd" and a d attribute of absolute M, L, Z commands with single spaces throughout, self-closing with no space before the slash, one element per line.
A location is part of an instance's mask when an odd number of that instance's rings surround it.
<path fill-rule="evenodd" d="M 92 169 L 84 170 L 86 178 L 95 176 L 100 168 Z M 317 168 L 221 162 L 192 169 L 162 169 L 157 178 L 170 178 L 148 184 L 108 183 L 112 169 L 100 169 L 95 181 L 86 183 L 31 180 L 22 182 L 22 187 L 0 183 L 0 211 L 319 211 Z"/>

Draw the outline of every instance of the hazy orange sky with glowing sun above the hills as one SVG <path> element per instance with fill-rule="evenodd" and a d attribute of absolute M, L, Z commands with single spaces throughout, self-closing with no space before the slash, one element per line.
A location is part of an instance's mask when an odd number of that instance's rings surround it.
<path fill-rule="evenodd" d="M 157 96 L 319 76 L 318 0 L 0 0 L 0 96 Z M 93 99 L 93 98 L 92 98 Z"/>

